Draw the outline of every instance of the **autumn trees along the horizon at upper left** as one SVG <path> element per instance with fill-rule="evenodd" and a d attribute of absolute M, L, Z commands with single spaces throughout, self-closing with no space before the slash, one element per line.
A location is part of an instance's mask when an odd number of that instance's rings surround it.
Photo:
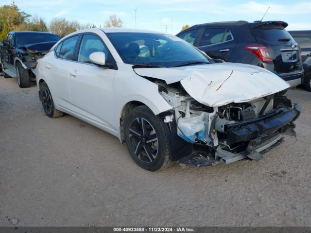
<path fill-rule="evenodd" d="M 116 15 L 111 15 L 104 21 L 103 26 L 122 27 L 123 21 Z M 4 40 L 11 31 L 51 32 L 64 37 L 78 30 L 95 27 L 96 25 L 92 23 L 82 24 L 66 18 L 53 18 L 46 23 L 42 17 L 32 16 L 21 11 L 14 1 L 10 5 L 0 6 L 0 41 Z"/>

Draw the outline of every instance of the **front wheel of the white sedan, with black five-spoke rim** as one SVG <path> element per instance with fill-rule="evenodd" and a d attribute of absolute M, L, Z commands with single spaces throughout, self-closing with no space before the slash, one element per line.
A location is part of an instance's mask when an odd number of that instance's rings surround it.
<path fill-rule="evenodd" d="M 170 165 L 169 141 L 164 121 L 147 106 L 132 109 L 124 121 L 127 148 L 138 166 L 162 170 Z"/>

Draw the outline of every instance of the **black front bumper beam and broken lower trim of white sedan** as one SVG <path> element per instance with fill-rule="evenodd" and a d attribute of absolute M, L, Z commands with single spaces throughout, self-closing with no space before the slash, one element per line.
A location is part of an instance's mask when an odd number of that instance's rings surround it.
<path fill-rule="evenodd" d="M 282 134 L 296 135 L 293 121 L 299 117 L 300 112 L 300 106 L 295 103 L 293 108 L 281 108 L 257 119 L 227 124 L 223 134 L 225 144 L 220 144 L 214 152 L 208 147 L 201 147 L 200 150 L 192 148 L 190 155 L 176 162 L 203 167 L 219 162 L 233 163 L 244 158 L 258 161 L 263 153 L 284 142 Z M 246 143 L 245 150 L 228 150 L 228 145 L 242 143 Z"/>

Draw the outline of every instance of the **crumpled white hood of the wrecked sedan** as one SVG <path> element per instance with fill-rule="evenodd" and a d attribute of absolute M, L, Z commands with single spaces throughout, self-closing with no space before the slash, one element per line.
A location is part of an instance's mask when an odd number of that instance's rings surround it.
<path fill-rule="evenodd" d="M 210 107 L 246 102 L 290 87 L 272 72 L 252 65 L 215 63 L 176 68 L 136 68 L 140 76 L 179 82 L 188 94 Z"/>

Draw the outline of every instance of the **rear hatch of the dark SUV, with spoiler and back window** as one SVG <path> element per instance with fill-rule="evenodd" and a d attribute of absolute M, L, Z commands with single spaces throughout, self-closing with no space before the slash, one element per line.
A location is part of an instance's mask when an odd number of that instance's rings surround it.
<path fill-rule="evenodd" d="M 279 74 L 299 69 L 299 47 L 285 30 L 287 26 L 283 21 L 254 22 L 250 25 L 256 41 L 272 53 L 275 71 Z"/>

